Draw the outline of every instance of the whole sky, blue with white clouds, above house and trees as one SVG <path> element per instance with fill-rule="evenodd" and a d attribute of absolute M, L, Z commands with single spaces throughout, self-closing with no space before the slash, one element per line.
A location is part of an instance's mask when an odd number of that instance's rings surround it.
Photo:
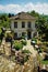
<path fill-rule="evenodd" d="M 33 11 L 48 14 L 48 0 L 0 0 L 0 12 L 19 13 Z"/>

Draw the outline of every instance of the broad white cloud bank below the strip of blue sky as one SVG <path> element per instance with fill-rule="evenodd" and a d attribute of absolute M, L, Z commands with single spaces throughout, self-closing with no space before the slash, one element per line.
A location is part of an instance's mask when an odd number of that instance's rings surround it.
<path fill-rule="evenodd" d="M 17 13 L 21 11 L 32 11 L 35 10 L 38 13 L 45 13 L 48 14 L 48 3 L 26 3 L 26 4 L 7 4 L 2 6 L 0 4 L 0 12 L 5 12 L 5 13 Z"/>

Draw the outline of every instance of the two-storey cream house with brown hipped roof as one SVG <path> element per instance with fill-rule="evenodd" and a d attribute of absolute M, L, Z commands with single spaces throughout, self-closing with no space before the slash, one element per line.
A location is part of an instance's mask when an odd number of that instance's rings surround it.
<path fill-rule="evenodd" d="M 11 18 L 11 30 L 14 31 L 15 38 L 24 37 L 31 39 L 36 32 L 36 19 L 28 13 L 20 12 Z"/>

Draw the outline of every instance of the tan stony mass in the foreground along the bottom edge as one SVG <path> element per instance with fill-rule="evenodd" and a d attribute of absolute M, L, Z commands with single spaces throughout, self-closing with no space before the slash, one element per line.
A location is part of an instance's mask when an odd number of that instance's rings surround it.
<path fill-rule="evenodd" d="M 37 61 L 35 63 L 34 60 L 33 55 L 31 55 L 29 60 L 25 62 L 24 65 L 21 65 L 3 55 L 0 55 L 0 72 L 38 72 Z"/>

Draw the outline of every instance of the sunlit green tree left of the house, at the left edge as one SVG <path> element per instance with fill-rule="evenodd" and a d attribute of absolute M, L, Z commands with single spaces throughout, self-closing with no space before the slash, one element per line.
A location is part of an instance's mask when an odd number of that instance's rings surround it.
<path fill-rule="evenodd" d="M 8 17 L 8 14 L 3 13 L 0 16 L 0 27 L 3 27 L 3 28 L 10 28 L 10 19 Z"/>

